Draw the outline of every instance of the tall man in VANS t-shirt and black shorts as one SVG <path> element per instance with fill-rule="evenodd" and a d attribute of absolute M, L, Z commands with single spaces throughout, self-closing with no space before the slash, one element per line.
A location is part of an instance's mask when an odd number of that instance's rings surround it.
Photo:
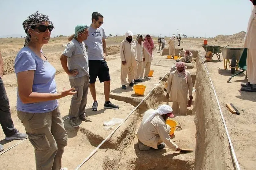
<path fill-rule="evenodd" d="M 112 104 L 109 101 L 110 93 L 110 75 L 109 68 L 107 65 L 106 56 L 106 34 L 101 27 L 103 24 L 103 16 L 98 12 L 93 12 L 91 15 L 91 26 L 89 27 L 89 36 L 87 40 L 83 41 L 87 45 L 88 60 L 89 60 L 89 75 L 90 75 L 90 91 L 94 103 L 92 105 L 92 110 L 97 111 L 98 102 L 96 98 L 95 82 L 98 77 L 100 82 L 104 82 L 104 94 L 105 94 L 105 104 L 104 108 L 109 109 L 119 109 L 119 106 Z M 69 41 L 73 39 L 73 35 L 69 37 Z"/>

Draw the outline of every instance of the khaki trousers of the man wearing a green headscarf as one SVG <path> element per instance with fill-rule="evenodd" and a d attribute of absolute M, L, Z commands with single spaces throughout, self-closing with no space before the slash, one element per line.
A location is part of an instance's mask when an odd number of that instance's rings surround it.
<path fill-rule="evenodd" d="M 87 94 L 89 90 L 89 76 L 82 76 L 76 79 L 69 79 L 70 86 L 76 88 L 77 93 L 72 96 L 69 119 L 78 119 L 78 117 L 85 115 L 85 107 L 87 104 Z"/>

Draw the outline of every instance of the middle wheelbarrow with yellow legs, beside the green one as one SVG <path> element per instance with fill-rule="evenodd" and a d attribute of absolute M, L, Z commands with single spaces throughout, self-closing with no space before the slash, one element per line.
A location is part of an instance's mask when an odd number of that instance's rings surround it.
<path fill-rule="evenodd" d="M 231 48 L 231 47 L 222 48 L 222 57 L 223 57 L 225 70 L 227 69 L 228 65 L 232 74 L 234 74 L 235 71 L 238 70 L 239 58 L 243 54 L 243 49 L 244 48 Z"/>

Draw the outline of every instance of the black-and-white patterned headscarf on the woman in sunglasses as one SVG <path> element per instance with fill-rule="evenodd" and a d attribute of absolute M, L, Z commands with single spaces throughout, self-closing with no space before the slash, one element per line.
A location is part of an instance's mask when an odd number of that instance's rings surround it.
<path fill-rule="evenodd" d="M 28 18 L 22 23 L 23 28 L 25 30 L 25 33 L 27 34 L 24 47 L 26 47 L 28 42 L 30 41 L 28 30 L 31 28 L 31 26 L 32 25 L 37 25 L 37 24 L 42 23 L 44 21 L 53 25 L 53 23 L 49 19 L 49 16 L 44 15 L 44 14 L 40 14 L 40 13 L 38 13 L 38 11 L 36 11 L 34 14 L 31 14 L 30 16 L 28 16 Z"/>

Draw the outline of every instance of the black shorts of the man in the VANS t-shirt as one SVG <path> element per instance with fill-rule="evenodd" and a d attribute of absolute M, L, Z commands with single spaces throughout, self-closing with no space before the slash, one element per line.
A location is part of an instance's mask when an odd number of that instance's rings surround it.
<path fill-rule="evenodd" d="M 97 77 L 100 82 L 109 81 L 109 67 L 105 60 L 89 60 L 90 84 L 95 83 Z"/>

